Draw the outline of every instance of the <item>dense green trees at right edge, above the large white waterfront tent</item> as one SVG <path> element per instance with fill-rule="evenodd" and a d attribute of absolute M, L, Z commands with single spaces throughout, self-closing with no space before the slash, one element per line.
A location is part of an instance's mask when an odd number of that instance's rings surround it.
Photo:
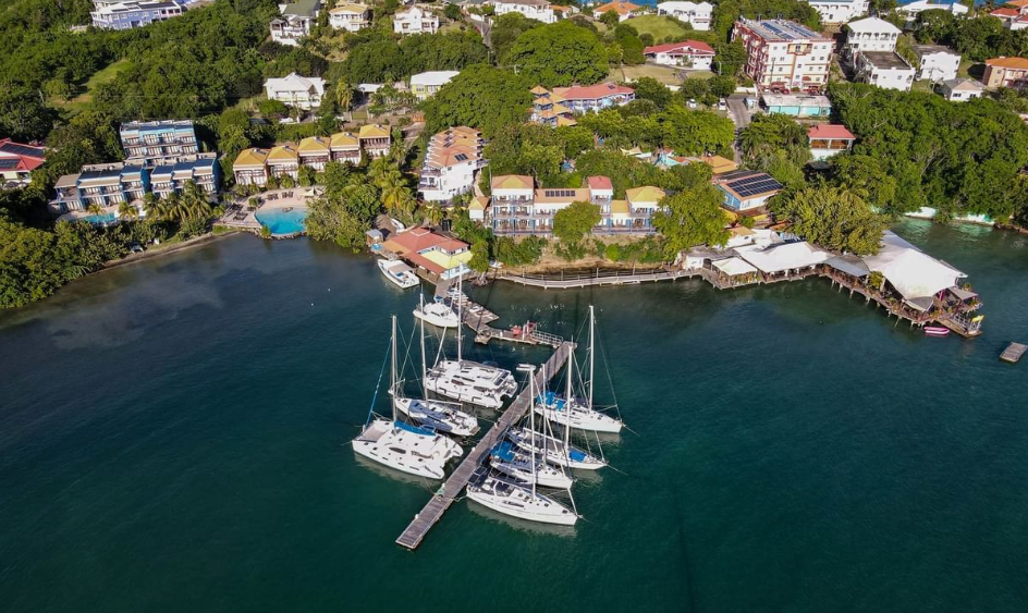
<path fill-rule="evenodd" d="M 837 160 L 837 168 L 859 172 L 836 174 L 844 183 L 866 186 L 883 211 L 930 206 L 1004 219 L 1019 205 L 1014 185 L 1028 162 L 1028 127 L 994 100 L 954 105 L 938 95 L 864 84 L 833 84 L 830 95 L 858 138 L 853 155 L 864 160 Z M 892 181 L 874 180 L 879 169 Z M 882 201 L 891 192 L 893 199 Z"/>

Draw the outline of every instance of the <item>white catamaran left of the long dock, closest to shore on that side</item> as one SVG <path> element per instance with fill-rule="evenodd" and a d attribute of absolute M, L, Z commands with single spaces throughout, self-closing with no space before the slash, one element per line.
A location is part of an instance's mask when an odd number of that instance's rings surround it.
<path fill-rule="evenodd" d="M 457 320 L 461 319 L 460 306 Z M 457 358 L 442 359 L 425 373 L 425 387 L 441 396 L 485 408 L 500 408 L 504 396 L 517 392 L 510 370 L 463 359 L 462 326 L 457 326 Z"/>

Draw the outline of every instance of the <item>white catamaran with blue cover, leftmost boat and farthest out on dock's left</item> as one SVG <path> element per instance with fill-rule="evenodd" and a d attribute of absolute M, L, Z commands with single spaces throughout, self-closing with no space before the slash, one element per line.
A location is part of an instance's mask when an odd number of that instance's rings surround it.
<path fill-rule="evenodd" d="M 442 434 L 396 419 L 396 316 L 392 317 L 390 405 L 392 419 L 371 419 L 354 439 L 354 452 L 403 473 L 442 479 L 444 467 L 464 450 Z"/>

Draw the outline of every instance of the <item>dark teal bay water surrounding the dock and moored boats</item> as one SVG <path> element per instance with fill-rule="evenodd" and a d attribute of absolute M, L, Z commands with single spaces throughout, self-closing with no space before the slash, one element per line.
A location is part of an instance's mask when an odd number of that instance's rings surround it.
<path fill-rule="evenodd" d="M 1028 237 L 900 232 L 969 273 L 983 336 L 822 281 L 476 290 L 565 335 L 595 304 L 633 432 L 572 531 L 462 501 L 413 553 L 430 486 L 345 445 L 413 291 L 253 236 L 75 282 L 0 314 L 0 609 L 1028 610 L 1028 364 L 998 360 L 1028 340 Z"/>

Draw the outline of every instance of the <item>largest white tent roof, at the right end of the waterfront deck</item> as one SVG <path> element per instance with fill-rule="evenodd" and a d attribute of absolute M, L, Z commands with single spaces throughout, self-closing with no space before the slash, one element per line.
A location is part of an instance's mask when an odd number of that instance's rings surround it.
<path fill-rule="evenodd" d="M 882 236 L 878 255 L 867 256 L 864 261 L 870 270 L 881 272 L 907 301 L 931 297 L 967 277 L 889 231 Z"/>

